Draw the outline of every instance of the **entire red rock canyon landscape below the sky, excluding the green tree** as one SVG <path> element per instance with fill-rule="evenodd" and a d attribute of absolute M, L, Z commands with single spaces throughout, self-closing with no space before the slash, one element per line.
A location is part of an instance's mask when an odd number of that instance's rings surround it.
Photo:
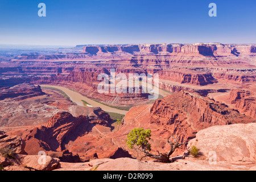
<path fill-rule="evenodd" d="M 9 50 L 0 58 L 0 169 L 256 170 L 255 44 L 36 51 Z M 98 76 L 111 79 L 113 69 L 114 76 L 135 75 L 127 92 L 98 92 Z M 184 144 L 172 163 L 140 160 L 143 152 L 127 147 L 127 135 L 139 127 L 151 130 L 153 154 L 168 151 L 167 138 L 180 135 Z M 42 151 L 46 164 L 38 163 Z"/>

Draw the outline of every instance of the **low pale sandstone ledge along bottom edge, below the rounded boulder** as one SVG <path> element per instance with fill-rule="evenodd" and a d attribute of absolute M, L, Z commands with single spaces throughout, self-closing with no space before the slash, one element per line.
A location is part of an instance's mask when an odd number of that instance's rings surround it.
<path fill-rule="evenodd" d="M 153 160 L 148 162 L 131 158 L 95 159 L 86 163 L 60 163 L 60 168 L 55 171 L 233 171 L 252 170 L 254 163 L 244 162 L 217 162 L 209 164 L 207 160 L 192 157 L 176 160 L 174 163 L 160 163 Z"/>

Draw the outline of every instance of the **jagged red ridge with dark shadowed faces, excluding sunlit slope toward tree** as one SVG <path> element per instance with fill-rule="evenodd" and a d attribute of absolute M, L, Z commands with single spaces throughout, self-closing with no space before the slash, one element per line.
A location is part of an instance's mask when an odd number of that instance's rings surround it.
<path fill-rule="evenodd" d="M 30 155 L 38 154 L 39 149 L 46 151 L 62 151 L 65 150 L 64 140 L 70 140 L 76 128 L 81 127 L 84 131 L 90 130 L 92 125 L 86 116 L 73 117 L 68 112 L 57 113 L 49 121 L 46 126 L 36 127 L 30 131 L 24 140 L 26 141 L 26 152 Z M 38 146 L 35 148 L 34 146 Z"/>

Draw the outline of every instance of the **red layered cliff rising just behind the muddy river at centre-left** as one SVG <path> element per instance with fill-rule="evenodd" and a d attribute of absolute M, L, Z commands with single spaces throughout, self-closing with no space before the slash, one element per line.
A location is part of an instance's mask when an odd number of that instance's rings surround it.
<path fill-rule="evenodd" d="M 133 106 L 138 104 L 146 104 L 148 102 L 148 93 L 142 93 L 142 87 L 139 87 L 139 92 L 129 93 L 129 88 L 126 89 L 127 93 L 111 93 L 110 86 L 108 93 L 98 92 L 98 75 L 101 73 L 109 73 L 105 69 L 98 70 L 97 72 L 71 72 L 68 76 L 61 74 L 56 76 L 38 76 L 33 77 L 31 82 L 34 84 L 46 85 L 59 85 L 65 88 L 73 89 L 82 95 L 104 102 L 105 104 L 113 106 Z M 128 86 L 128 85 L 127 85 Z M 135 88 L 133 88 L 135 89 Z"/>

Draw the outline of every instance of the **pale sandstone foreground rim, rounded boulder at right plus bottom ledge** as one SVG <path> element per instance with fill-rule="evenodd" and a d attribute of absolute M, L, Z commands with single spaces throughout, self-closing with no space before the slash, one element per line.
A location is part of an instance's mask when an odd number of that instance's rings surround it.
<path fill-rule="evenodd" d="M 255 170 L 256 123 L 212 126 L 197 133 L 196 138 L 188 143 L 188 149 L 196 146 L 200 156 L 193 158 L 176 156 L 174 163 L 159 163 L 153 160 L 139 161 L 130 158 L 95 159 L 90 162 L 60 163 L 57 171 L 230 171 Z M 214 164 L 210 158 L 216 152 Z M 124 165 L 125 164 L 125 165 Z"/>

